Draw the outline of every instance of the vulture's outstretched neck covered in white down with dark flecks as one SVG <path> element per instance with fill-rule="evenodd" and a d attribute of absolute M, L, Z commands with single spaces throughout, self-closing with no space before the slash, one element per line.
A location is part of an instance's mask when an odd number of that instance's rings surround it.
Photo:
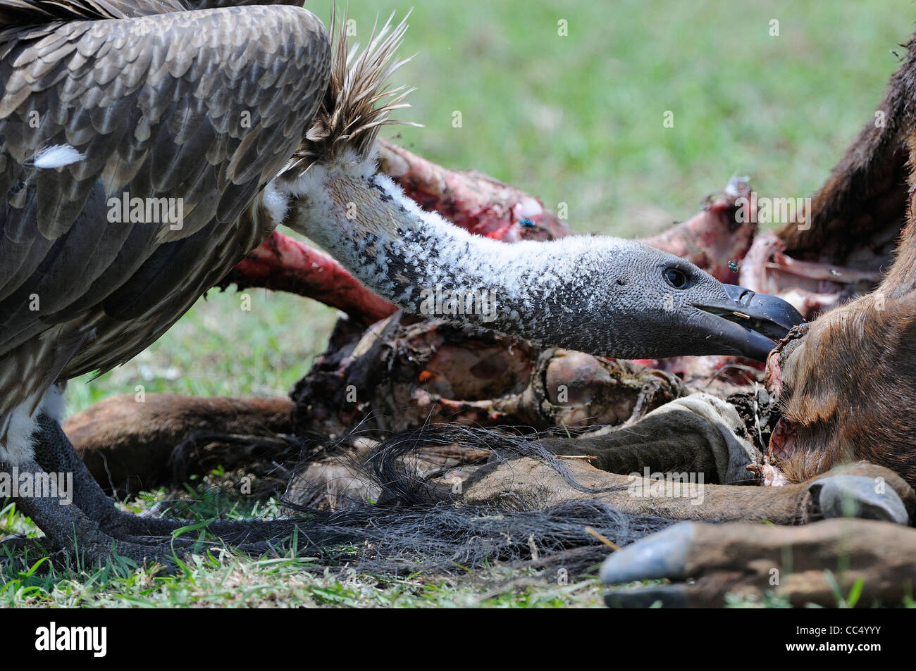
<path fill-rule="evenodd" d="M 582 325 L 594 319 L 593 310 L 607 311 L 603 275 L 636 243 L 570 236 L 506 244 L 473 235 L 421 210 L 376 173 L 375 157 L 352 152 L 275 188 L 291 199 L 284 220 L 291 228 L 413 314 L 591 352 L 629 349 L 615 344 L 612 333 L 583 333 Z"/>

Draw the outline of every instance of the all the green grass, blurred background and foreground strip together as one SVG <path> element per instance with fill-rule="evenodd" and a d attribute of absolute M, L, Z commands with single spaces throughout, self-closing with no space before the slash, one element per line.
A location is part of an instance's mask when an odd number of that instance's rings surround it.
<path fill-rule="evenodd" d="M 323 3 L 310 3 L 324 17 Z M 350 0 L 365 43 L 376 12 Z M 873 114 L 911 33 L 910 0 L 854 2 L 427 2 L 398 81 L 418 87 L 398 142 L 567 204 L 573 228 L 633 235 L 696 211 L 733 173 L 770 196 L 810 195 Z M 771 36 L 771 21 L 779 35 Z M 558 35 L 565 21 L 567 35 Z M 898 49 L 900 50 L 900 49 Z M 663 115 L 673 113 L 673 127 Z M 461 126 L 455 127 L 455 113 Z M 389 132 L 388 135 L 393 135 Z M 71 410 L 116 393 L 285 394 L 321 352 L 333 310 L 252 291 L 211 292 L 135 361 L 71 383 Z M 205 515 L 205 511 L 202 512 Z M 4 528 L 34 531 L 0 515 Z M 335 579 L 308 558 L 201 559 L 176 577 L 116 568 L 43 576 L 9 565 L 5 605 L 595 605 L 594 581 Z M 506 578 L 506 577 L 503 577 Z"/>

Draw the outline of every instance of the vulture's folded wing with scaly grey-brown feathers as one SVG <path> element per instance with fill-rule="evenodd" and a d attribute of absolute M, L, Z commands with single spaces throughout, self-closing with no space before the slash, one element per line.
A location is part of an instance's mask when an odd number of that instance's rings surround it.
<path fill-rule="evenodd" d="M 0 23 L 10 7 L 52 4 L 0 0 Z M 137 3 L 74 5 L 132 16 Z M 259 242 L 267 230 L 249 205 L 297 146 L 330 67 L 322 24 L 295 7 L 10 35 L 0 41 L 0 420 L 54 381 L 40 373 L 106 369 L 141 351 Z M 83 159 L 29 165 L 64 144 Z M 181 199 L 182 225 L 108 222 L 108 198 L 125 192 Z"/>

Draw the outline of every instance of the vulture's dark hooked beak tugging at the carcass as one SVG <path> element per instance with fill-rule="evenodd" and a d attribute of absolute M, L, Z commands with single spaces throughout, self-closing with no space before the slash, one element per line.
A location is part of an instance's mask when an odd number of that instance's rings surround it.
<path fill-rule="evenodd" d="M 722 287 L 725 298 L 721 302 L 704 301 L 692 305 L 710 315 L 703 319 L 709 340 L 740 356 L 767 361 L 776 342 L 804 321 L 799 311 L 782 298 L 735 285 Z"/>

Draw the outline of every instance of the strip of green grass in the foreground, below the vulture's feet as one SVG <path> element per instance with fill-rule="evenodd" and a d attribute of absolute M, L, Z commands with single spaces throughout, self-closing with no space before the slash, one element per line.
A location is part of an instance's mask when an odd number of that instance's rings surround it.
<path fill-rule="evenodd" d="M 594 580 L 549 587 L 515 577 L 499 589 L 454 579 L 334 578 L 311 572 L 309 557 L 251 560 L 195 557 L 172 576 L 155 570 L 106 567 L 60 576 L 4 571 L 0 607 L 61 608 L 336 607 L 556 608 L 596 606 Z"/>

